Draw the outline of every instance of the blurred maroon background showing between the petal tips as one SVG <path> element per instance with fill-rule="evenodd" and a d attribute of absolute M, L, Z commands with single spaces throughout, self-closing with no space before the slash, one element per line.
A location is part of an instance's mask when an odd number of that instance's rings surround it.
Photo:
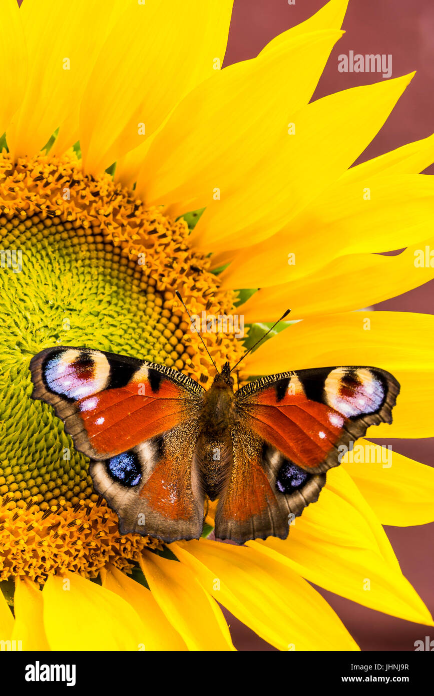
<path fill-rule="evenodd" d="M 303 22 L 325 0 L 234 0 L 225 65 L 253 58 L 276 35 Z M 339 54 L 392 54 L 392 77 L 417 70 L 385 126 L 357 161 L 364 161 L 424 138 L 434 132 L 434 1 L 350 0 L 344 19 L 346 34 L 333 50 L 313 99 L 379 81 L 377 73 L 339 72 Z M 296 66 L 295 68 L 296 69 Z M 434 166 L 425 173 L 434 174 Z M 433 313 L 434 281 L 375 307 L 401 312 Z M 434 411 L 434 408 L 433 408 Z M 433 414 L 434 415 L 434 414 Z M 434 438 L 372 440 L 424 464 L 434 463 Z M 434 506 L 434 502 L 433 502 Z M 405 511 L 403 511 L 405 514 Z M 434 523 L 419 527 L 387 527 L 387 536 L 403 574 L 434 612 Z M 411 624 L 364 608 L 318 589 L 339 614 L 362 650 L 414 650 L 415 640 L 434 639 L 434 628 Z M 289 592 L 291 588 L 288 588 Z M 227 612 L 239 650 L 273 650 Z M 325 627 L 326 630 L 326 627 Z"/>

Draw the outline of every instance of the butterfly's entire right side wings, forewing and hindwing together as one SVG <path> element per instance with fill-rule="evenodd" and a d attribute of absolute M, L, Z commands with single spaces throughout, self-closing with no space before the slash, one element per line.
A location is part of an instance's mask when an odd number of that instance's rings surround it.
<path fill-rule="evenodd" d="M 286 538 L 288 521 L 318 499 L 325 472 L 340 464 L 341 445 L 392 422 L 398 394 L 392 374 L 376 367 L 285 372 L 241 388 L 216 537 Z"/>

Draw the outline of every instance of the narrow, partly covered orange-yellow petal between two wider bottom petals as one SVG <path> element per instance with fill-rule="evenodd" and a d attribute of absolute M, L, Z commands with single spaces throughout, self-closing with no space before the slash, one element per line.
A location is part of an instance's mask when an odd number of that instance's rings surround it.
<path fill-rule="evenodd" d="M 111 567 L 102 583 L 134 607 L 143 622 L 143 649 L 186 650 L 186 644 L 159 608 L 152 592 Z"/>

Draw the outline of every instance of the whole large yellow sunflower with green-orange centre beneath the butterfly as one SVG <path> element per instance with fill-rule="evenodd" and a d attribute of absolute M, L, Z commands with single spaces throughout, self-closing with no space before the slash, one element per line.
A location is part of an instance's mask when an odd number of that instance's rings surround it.
<path fill-rule="evenodd" d="M 310 583 L 433 625 L 382 527 L 433 519 L 428 466 L 392 452 L 385 466 L 363 441 L 372 463 L 330 470 L 288 539 L 208 539 L 211 506 L 202 539 L 168 547 L 120 535 L 88 459 L 30 398 L 31 356 L 56 343 L 206 387 L 179 290 L 193 313 L 243 315 L 248 340 L 293 308 L 241 379 L 378 365 L 401 395 L 372 435 L 433 435 L 433 317 L 356 310 L 434 276 L 414 262 L 434 242 L 434 184 L 419 174 L 434 141 L 351 167 L 412 76 L 310 103 L 346 5 L 221 69 L 232 0 L 2 1 L 0 639 L 12 647 L 232 650 L 221 605 L 278 649 L 356 650 Z M 234 335 L 203 338 L 218 367 L 243 354 Z"/>

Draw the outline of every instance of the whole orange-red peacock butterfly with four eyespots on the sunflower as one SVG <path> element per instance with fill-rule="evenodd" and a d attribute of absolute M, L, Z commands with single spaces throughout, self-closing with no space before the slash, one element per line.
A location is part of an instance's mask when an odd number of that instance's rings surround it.
<path fill-rule="evenodd" d="M 205 390 L 166 365 L 80 347 L 47 348 L 30 370 L 33 398 L 90 457 L 120 532 L 166 542 L 202 535 L 207 499 L 217 539 L 286 539 L 341 445 L 392 422 L 399 394 L 378 367 L 280 372 L 234 391 L 229 363 Z"/>

